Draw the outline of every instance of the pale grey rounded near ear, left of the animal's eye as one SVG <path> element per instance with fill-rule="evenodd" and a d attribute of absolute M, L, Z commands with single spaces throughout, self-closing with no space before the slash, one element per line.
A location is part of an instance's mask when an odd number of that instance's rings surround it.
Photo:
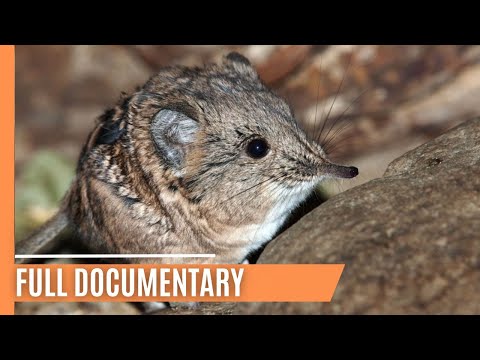
<path fill-rule="evenodd" d="M 187 145 L 192 143 L 199 128 L 196 120 L 169 109 L 160 110 L 152 121 L 151 130 L 157 149 L 165 161 L 180 171 Z"/>

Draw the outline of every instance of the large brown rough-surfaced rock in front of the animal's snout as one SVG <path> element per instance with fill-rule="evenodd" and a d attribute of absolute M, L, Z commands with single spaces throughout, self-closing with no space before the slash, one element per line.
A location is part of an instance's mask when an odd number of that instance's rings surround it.
<path fill-rule="evenodd" d="M 329 199 L 266 247 L 259 263 L 345 263 L 331 303 L 243 303 L 235 313 L 479 313 L 479 234 L 480 118 Z"/>

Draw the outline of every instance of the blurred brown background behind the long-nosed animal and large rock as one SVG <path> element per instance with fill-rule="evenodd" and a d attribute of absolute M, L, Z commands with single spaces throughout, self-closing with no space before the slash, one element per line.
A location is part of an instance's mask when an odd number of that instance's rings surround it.
<path fill-rule="evenodd" d="M 480 46 L 17 46 L 16 239 L 55 212 L 95 119 L 122 91 L 229 51 L 250 59 L 307 132 L 329 114 L 331 157 L 360 175 L 324 186 L 327 198 L 480 115 Z"/>

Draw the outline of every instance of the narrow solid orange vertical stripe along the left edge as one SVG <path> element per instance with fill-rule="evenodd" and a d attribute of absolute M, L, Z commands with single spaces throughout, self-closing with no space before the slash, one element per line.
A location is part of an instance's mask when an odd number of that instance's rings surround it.
<path fill-rule="evenodd" d="M 13 315 L 15 47 L 0 46 L 0 314 Z"/>

